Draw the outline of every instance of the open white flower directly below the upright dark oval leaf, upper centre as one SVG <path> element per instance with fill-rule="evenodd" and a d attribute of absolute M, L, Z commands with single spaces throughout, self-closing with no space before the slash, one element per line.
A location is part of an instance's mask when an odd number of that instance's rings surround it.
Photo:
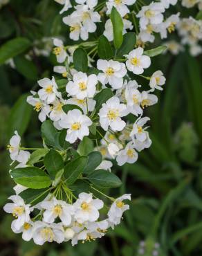
<path fill-rule="evenodd" d="M 66 85 L 66 92 L 79 100 L 93 98 L 96 84 L 98 84 L 96 75 L 87 76 L 86 73 L 78 72 L 73 75 L 73 81 L 68 82 Z"/>

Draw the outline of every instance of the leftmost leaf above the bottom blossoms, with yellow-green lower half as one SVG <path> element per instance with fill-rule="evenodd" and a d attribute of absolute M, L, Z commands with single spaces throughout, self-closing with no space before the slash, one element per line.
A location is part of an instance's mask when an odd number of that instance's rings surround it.
<path fill-rule="evenodd" d="M 48 188 L 51 184 L 48 174 L 37 167 L 17 168 L 10 175 L 17 184 L 27 188 Z"/>

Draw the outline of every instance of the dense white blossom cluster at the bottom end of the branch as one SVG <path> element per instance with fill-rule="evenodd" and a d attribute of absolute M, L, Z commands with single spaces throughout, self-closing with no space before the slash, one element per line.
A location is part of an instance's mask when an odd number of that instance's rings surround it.
<path fill-rule="evenodd" d="M 3 209 L 15 217 L 11 224 L 12 231 L 22 233 L 25 241 L 33 239 L 35 244 L 41 246 L 45 242 L 56 241 L 60 244 L 71 241 L 75 246 L 78 241 L 84 243 L 103 237 L 109 228 L 118 225 L 123 212 L 129 209 L 129 205 L 123 201 L 130 200 L 131 195 L 124 194 L 114 199 L 107 219 L 102 221 L 99 220 L 99 210 L 104 207 L 104 202 L 93 199 L 93 194 L 85 192 L 80 193 L 73 204 L 56 199 L 54 194 L 33 207 L 26 204 L 18 194 L 10 196 L 9 199 L 12 203 L 7 203 Z M 31 216 L 34 210 L 39 212 L 41 220 Z"/>

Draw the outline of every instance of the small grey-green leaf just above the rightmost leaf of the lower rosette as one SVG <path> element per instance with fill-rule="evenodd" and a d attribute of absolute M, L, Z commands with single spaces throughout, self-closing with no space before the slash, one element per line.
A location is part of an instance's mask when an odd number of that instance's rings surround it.
<path fill-rule="evenodd" d="M 102 163 L 102 154 L 100 152 L 91 152 L 86 167 L 84 168 L 84 174 L 90 174 Z"/>

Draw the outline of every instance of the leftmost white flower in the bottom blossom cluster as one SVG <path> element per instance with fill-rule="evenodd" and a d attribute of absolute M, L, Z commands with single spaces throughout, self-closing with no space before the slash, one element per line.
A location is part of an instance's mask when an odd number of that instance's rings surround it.
<path fill-rule="evenodd" d="M 30 205 L 26 205 L 24 199 L 18 195 L 10 196 L 8 199 L 12 200 L 13 203 L 6 203 L 3 210 L 12 213 L 12 215 L 17 218 L 15 221 L 12 221 L 12 227 L 15 228 L 15 230 L 19 230 L 24 223 L 30 221 Z"/>

